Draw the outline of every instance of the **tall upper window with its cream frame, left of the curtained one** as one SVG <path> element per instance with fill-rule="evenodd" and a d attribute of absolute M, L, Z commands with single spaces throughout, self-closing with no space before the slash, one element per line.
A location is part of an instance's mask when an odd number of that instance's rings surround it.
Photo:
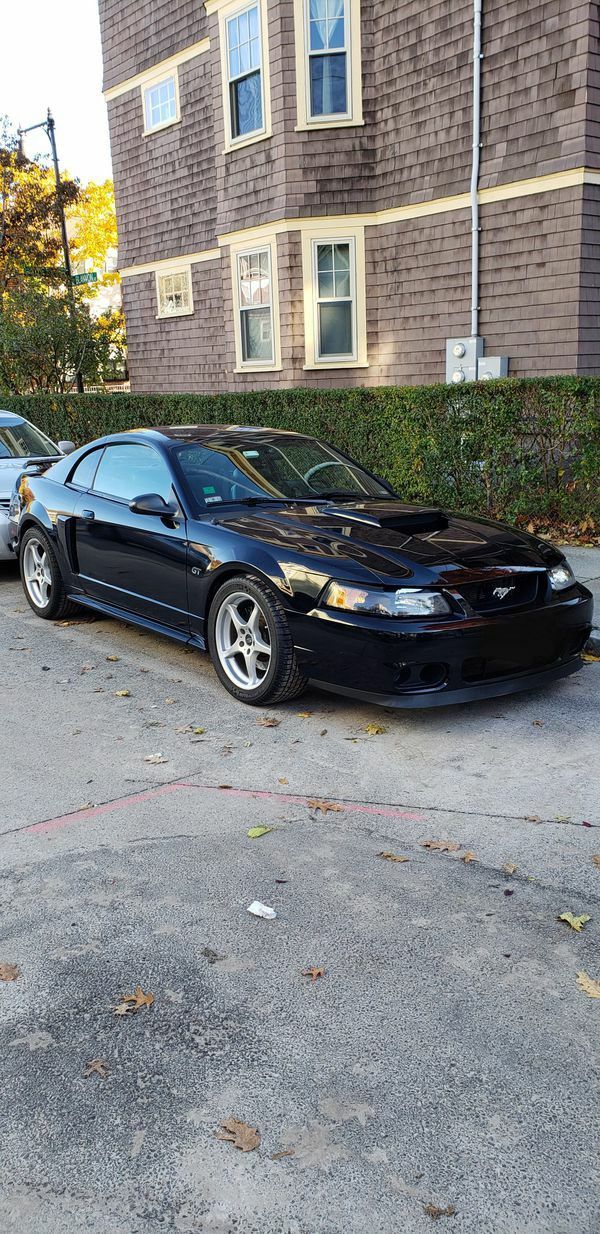
<path fill-rule="evenodd" d="M 225 151 L 270 137 L 267 0 L 206 0 L 219 14 Z"/>

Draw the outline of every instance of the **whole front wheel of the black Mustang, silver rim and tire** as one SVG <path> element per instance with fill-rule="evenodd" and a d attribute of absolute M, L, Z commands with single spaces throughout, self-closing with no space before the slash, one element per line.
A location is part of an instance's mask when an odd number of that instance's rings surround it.
<path fill-rule="evenodd" d="M 284 607 L 260 579 L 228 579 L 219 589 L 209 652 L 220 681 L 241 702 L 283 702 L 306 687 Z"/>

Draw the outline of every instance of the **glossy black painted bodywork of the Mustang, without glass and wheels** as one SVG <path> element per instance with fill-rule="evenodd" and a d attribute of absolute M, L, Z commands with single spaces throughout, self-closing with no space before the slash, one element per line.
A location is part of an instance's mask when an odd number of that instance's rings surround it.
<path fill-rule="evenodd" d="M 553 592 L 547 569 L 563 557 L 525 532 L 486 518 L 420 510 L 391 494 L 389 501 L 281 501 L 252 508 L 237 502 L 211 506 L 202 515 L 194 511 L 174 447 L 183 441 L 210 447 L 223 436 L 235 443 L 236 434 L 243 443 L 281 436 L 274 429 L 201 426 L 140 429 L 83 447 L 44 474 L 27 475 L 19 538 L 35 523 L 46 529 L 73 598 L 199 648 L 205 647 L 207 608 L 219 585 L 233 574 L 259 575 L 284 605 L 301 671 L 327 689 L 388 706 L 510 694 L 580 666 L 591 596 L 579 584 Z M 174 476 L 175 515 L 132 513 L 125 501 L 69 484 L 91 448 L 119 442 L 151 444 L 163 455 Z M 495 611 L 479 612 L 462 594 L 490 580 L 531 579 L 531 571 L 533 602 L 530 597 L 504 611 L 499 602 Z M 442 587 L 453 612 L 390 619 L 332 611 L 321 603 L 331 580 Z M 490 666 L 479 677 L 478 661 Z M 443 666 L 438 680 L 430 673 L 432 664 Z M 467 671 L 465 665 L 473 668 Z"/>

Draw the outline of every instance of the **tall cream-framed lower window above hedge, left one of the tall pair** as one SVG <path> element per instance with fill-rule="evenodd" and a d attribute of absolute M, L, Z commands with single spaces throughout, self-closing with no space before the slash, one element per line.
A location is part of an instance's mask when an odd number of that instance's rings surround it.
<path fill-rule="evenodd" d="M 274 243 L 232 252 L 237 370 L 278 370 L 279 296 Z"/>

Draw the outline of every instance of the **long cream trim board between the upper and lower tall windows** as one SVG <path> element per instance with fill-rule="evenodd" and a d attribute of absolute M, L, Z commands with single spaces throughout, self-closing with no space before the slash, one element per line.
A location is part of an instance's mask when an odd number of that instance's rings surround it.
<path fill-rule="evenodd" d="M 556 193 L 560 189 L 580 188 L 584 184 L 600 185 L 600 170 L 578 167 L 568 172 L 556 172 L 551 175 L 532 176 L 527 180 L 512 180 L 509 184 L 498 184 L 491 189 L 479 190 L 480 205 L 493 205 L 498 201 L 514 201 L 520 197 L 533 196 L 535 194 Z M 468 210 L 470 197 L 468 193 L 460 193 L 447 197 L 435 197 L 431 201 L 415 201 L 405 206 L 390 206 L 388 210 L 375 210 L 368 213 L 356 215 L 321 215 L 311 218 L 275 218 L 272 222 L 258 223 L 254 227 L 242 227 L 237 231 L 222 232 L 217 236 L 219 248 L 205 249 L 204 253 L 181 254 L 177 258 L 168 258 L 165 262 L 149 262 L 143 265 L 130 265 L 121 270 L 122 278 L 133 274 L 148 274 L 160 265 L 179 262 L 212 262 L 219 257 L 221 248 L 231 244 L 264 244 L 273 236 L 284 232 L 331 232 L 332 228 L 353 227 L 385 227 L 386 223 L 400 223 L 410 218 L 426 218 L 430 215 L 451 213 L 456 210 Z"/>

